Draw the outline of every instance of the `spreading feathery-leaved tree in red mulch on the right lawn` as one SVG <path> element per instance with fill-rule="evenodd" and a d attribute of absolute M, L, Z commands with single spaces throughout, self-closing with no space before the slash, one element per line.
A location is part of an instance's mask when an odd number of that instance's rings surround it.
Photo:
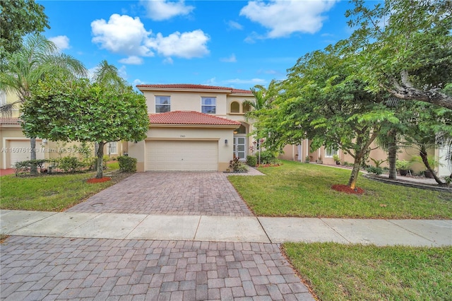
<path fill-rule="evenodd" d="M 283 148 L 302 138 L 311 149 L 341 148 L 355 162 L 348 186 L 355 189 L 359 167 L 383 123 L 398 122 L 381 95 L 367 93 L 352 76 L 353 57 L 334 47 L 306 54 L 289 70 L 273 107 L 257 114 L 257 131 L 266 145 Z"/>

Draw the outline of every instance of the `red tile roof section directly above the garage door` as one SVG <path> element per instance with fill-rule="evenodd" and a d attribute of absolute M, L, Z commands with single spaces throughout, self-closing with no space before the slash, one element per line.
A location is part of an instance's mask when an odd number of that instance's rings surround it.
<path fill-rule="evenodd" d="M 207 124 L 234 125 L 240 122 L 195 111 L 173 111 L 167 113 L 150 114 L 150 124 Z"/>

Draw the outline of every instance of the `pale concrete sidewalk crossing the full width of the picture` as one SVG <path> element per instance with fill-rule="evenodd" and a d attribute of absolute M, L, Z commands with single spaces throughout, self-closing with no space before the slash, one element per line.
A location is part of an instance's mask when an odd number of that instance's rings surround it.
<path fill-rule="evenodd" d="M 339 242 L 452 245 L 452 220 L 0 211 L 1 233 L 18 236 L 210 242 Z"/>

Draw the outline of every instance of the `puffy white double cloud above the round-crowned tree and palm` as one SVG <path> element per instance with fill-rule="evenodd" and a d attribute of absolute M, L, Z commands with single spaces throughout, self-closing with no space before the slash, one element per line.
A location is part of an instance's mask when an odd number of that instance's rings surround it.
<path fill-rule="evenodd" d="M 93 42 L 109 52 L 126 54 L 123 64 L 138 64 L 141 57 L 152 57 L 154 52 L 164 57 L 191 59 L 209 53 L 207 42 L 210 37 L 202 30 L 186 33 L 178 31 L 164 37 L 161 33 L 153 35 L 145 30 L 140 18 L 113 14 L 108 22 L 100 19 L 91 23 Z M 167 62 L 172 61 L 167 59 Z"/>

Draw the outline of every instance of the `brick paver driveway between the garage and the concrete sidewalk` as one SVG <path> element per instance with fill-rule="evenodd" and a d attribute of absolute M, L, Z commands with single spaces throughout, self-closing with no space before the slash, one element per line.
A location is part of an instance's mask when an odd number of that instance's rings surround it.
<path fill-rule="evenodd" d="M 253 216 L 222 172 L 140 172 L 68 212 Z"/>

